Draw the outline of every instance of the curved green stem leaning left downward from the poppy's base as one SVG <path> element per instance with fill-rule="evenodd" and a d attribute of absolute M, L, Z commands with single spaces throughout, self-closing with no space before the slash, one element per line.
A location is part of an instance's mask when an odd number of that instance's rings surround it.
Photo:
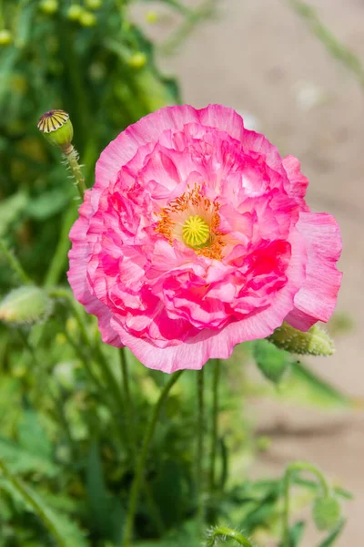
<path fill-rule="evenodd" d="M 178 370 L 178 372 L 176 372 L 172 377 L 169 378 L 166 386 L 163 387 L 159 395 L 157 404 L 153 409 L 152 415 L 147 423 L 147 429 L 144 435 L 142 448 L 136 463 L 136 474 L 134 476 L 133 484 L 130 490 L 129 506 L 126 514 L 126 526 L 124 529 L 122 547 L 128 547 L 130 545 L 131 536 L 133 534 L 134 518 L 136 515 L 136 504 L 139 496 L 140 486 L 143 480 L 143 473 L 146 467 L 147 453 L 150 442 L 153 438 L 154 431 L 157 426 L 157 419 L 159 417 L 160 410 L 167 399 L 169 391 L 176 384 L 177 379 L 181 376 L 182 373 L 183 370 Z"/>

